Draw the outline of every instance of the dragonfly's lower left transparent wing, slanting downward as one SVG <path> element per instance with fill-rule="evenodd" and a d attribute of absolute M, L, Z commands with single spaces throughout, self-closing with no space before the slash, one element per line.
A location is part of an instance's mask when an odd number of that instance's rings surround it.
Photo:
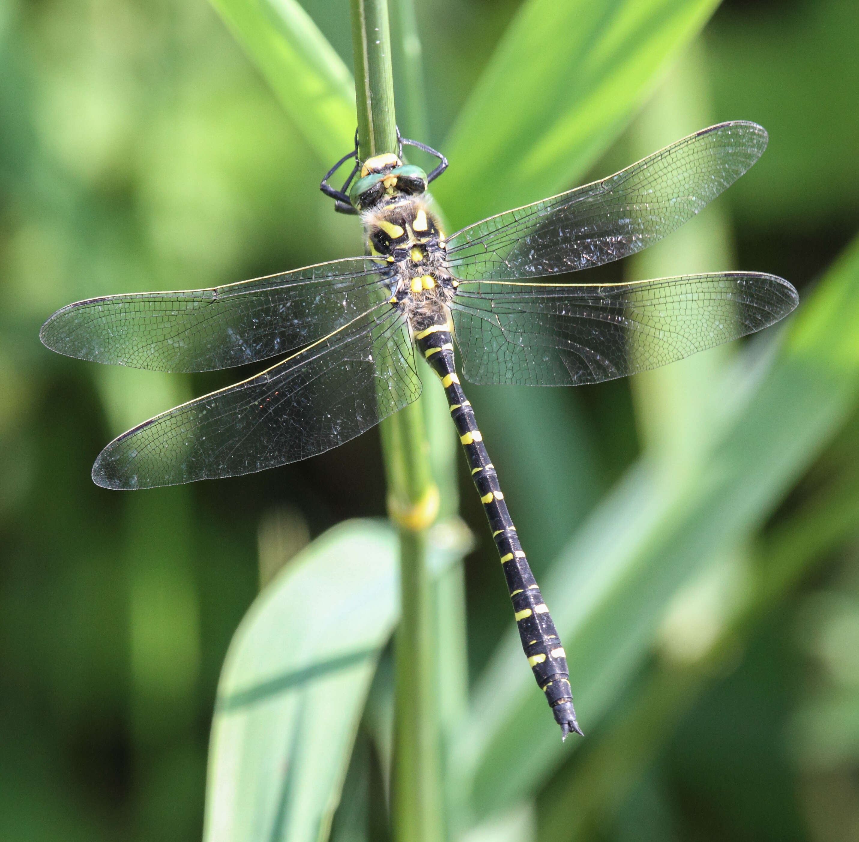
<path fill-rule="evenodd" d="M 383 304 L 257 377 L 123 433 L 93 479 L 155 488 L 273 468 L 354 439 L 420 392 L 405 322 Z"/>

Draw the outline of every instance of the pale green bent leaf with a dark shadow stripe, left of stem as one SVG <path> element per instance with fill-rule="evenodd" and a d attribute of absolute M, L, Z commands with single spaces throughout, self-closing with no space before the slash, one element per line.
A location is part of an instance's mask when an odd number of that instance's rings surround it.
<path fill-rule="evenodd" d="M 206 842 L 325 839 L 381 648 L 399 549 L 348 521 L 277 575 L 235 633 L 212 724 Z"/>

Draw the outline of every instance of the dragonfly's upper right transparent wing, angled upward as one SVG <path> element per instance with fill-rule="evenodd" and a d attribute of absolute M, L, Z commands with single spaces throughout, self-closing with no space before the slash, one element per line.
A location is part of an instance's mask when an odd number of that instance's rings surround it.
<path fill-rule="evenodd" d="M 587 269 L 641 251 L 704 208 L 758 160 L 758 124 L 722 123 L 602 181 L 490 216 L 448 238 L 463 281 Z"/>

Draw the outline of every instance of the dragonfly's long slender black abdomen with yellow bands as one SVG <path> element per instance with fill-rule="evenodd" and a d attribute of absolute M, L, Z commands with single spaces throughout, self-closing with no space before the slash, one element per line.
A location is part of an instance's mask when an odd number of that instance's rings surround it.
<path fill-rule="evenodd" d="M 562 738 L 566 739 L 571 731 L 582 734 L 576 722 L 576 711 L 573 709 L 570 671 L 564 647 L 558 638 L 549 609 L 540 595 L 519 536 L 516 535 L 515 525 L 498 483 L 496 469 L 490 462 L 483 436 L 474 418 L 472 405 L 462 391 L 460 379 L 456 374 L 450 325 L 432 324 L 419 330 L 415 334 L 415 342 L 424 359 L 442 379 L 450 414 L 460 434 L 460 441 L 472 471 L 472 480 L 484 504 L 484 512 L 498 548 L 522 649 L 531 665 L 534 678 L 544 692 L 557 724 L 561 726 Z"/>

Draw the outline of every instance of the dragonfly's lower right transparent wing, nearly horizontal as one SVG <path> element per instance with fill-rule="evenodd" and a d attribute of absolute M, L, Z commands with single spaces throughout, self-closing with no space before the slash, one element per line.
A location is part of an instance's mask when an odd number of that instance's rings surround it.
<path fill-rule="evenodd" d="M 599 286 L 460 284 L 452 311 L 472 383 L 600 383 L 729 342 L 798 303 L 782 278 L 749 272 Z"/>

